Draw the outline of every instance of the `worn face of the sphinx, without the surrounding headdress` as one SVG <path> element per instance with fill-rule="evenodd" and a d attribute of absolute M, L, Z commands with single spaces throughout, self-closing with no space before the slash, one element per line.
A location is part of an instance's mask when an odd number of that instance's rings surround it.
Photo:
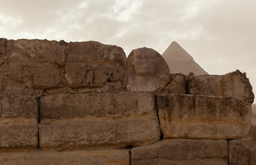
<path fill-rule="evenodd" d="M 134 50 L 134 69 L 137 76 L 153 76 L 156 65 L 156 52 L 143 48 Z"/>

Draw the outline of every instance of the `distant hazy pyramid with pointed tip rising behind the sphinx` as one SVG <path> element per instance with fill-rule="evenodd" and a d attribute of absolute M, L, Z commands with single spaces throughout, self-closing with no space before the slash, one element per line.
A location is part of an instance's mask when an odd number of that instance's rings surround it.
<path fill-rule="evenodd" d="M 172 74 L 181 73 L 189 75 L 190 72 L 193 72 L 195 76 L 208 74 L 198 63 L 195 63 L 193 57 L 175 41 L 164 51 L 162 57 L 167 62 Z"/>

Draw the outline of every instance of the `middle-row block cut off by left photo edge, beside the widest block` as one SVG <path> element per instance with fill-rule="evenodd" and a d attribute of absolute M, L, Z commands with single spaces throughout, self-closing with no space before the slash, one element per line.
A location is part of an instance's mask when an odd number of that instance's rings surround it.
<path fill-rule="evenodd" d="M 0 148 L 36 148 L 37 120 L 36 97 L 0 94 Z"/>

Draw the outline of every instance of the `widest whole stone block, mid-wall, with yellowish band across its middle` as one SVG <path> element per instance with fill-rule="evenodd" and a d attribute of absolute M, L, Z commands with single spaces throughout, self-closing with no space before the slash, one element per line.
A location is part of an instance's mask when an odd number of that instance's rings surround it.
<path fill-rule="evenodd" d="M 54 94 L 43 96 L 40 107 L 43 148 L 140 146 L 160 138 L 148 92 Z"/>

